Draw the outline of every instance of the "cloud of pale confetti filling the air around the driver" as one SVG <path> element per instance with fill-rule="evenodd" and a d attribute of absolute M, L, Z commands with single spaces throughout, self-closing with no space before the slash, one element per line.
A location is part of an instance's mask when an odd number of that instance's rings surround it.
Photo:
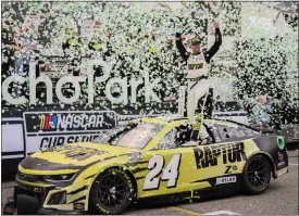
<path fill-rule="evenodd" d="M 284 7 L 279 2 L 10 2 L 2 4 L 2 20 L 12 24 L 13 34 L 18 35 L 23 42 L 29 38 L 36 47 L 35 43 L 42 41 L 37 56 L 43 60 L 47 68 L 59 61 L 51 62 L 43 53 L 49 55 L 58 50 L 63 53 L 66 41 L 71 46 L 65 46 L 64 52 L 77 71 L 85 56 L 98 59 L 98 53 L 112 72 L 108 79 L 94 85 L 97 109 L 110 109 L 107 93 L 111 92 L 112 98 L 122 98 L 121 101 L 133 104 L 132 109 L 139 110 L 139 114 L 149 111 L 166 113 L 166 107 L 176 110 L 178 88 L 187 85 L 186 65 L 175 48 L 175 23 L 183 26 L 186 48 L 189 48 L 189 39 L 198 36 L 202 41 L 201 49 L 207 50 L 210 48 L 209 38 L 213 39 L 210 26 L 220 21 L 223 46 L 227 43 L 228 49 L 221 48 L 223 50 L 211 63 L 211 82 L 214 92 L 220 92 L 219 101 L 234 100 L 251 111 L 257 104 L 256 98 L 266 93 L 275 113 L 289 114 L 275 114 L 278 124 L 291 122 L 289 110 L 298 109 L 298 15 L 282 14 L 276 18 L 277 8 Z M 24 24 L 29 26 L 27 30 L 22 30 Z M 38 26 L 38 31 L 35 31 L 35 26 Z M 167 43 L 167 39 L 172 39 L 172 43 Z M 232 40 L 229 45 L 228 39 Z M 95 50 L 90 50 L 90 45 Z M 8 50 L 2 48 L 2 64 L 13 64 L 17 60 Z M 9 66 L 2 78 L 5 79 L 14 69 L 14 66 Z M 100 67 L 95 73 L 96 76 L 103 75 Z M 129 92 L 119 82 L 108 87 L 109 80 L 117 77 L 127 78 Z M 148 86 L 152 91 L 146 97 Z M 133 87 L 136 87 L 134 97 Z M 80 88 L 83 96 L 78 104 L 83 105 L 88 101 L 88 82 L 83 82 Z M 22 91 L 28 94 L 28 81 L 22 86 Z M 64 93 L 72 96 L 74 89 L 68 86 Z M 20 91 L 12 92 L 13 98 L 18 94 Z M 41 92 L 37 105 L 46 105 L 46 98 L 47 94 Z M 115 101 L 112 107 L 121 107 L 124 114 L 130 114 L 130 110 Z M 164 106 L 161 101 L 170 106 Z M 283 105 L 286 101 L 287 105 Z M 158 105 L 144 109 L 148 102 Z M 60 107 L 65 106 L 60 104 Z"/>

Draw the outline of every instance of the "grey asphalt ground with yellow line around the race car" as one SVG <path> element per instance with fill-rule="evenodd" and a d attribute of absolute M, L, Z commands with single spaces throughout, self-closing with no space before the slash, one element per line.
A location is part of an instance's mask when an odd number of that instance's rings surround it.
<path fill-rule="evenodd" d="M 271 180 L 267 190 L 260 195 L 241 193 L 205 201 L 177 203 L 175 205 L 134 204 L 127 215 L 298 215 L 298 150 L 289 151 L 289 173 Z M 2 211 L 8 196 L 13 194 L 14 181 L 2 182 Z"/>

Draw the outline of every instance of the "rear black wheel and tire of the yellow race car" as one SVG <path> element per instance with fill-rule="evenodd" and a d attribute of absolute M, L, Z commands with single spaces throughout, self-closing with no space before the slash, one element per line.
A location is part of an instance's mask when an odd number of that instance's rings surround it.
<path fill-rule="evenodd" d="M 271 165 L 263 155 L 253 155 L 242 171 L 242 191 L 249 195 L 261 194 L 271 180 Z"/>

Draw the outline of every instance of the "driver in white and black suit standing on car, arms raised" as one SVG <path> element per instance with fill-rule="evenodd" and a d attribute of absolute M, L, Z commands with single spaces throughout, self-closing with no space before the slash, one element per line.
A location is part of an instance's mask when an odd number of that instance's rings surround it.
<path fill-rule="evenodd" d="M 219 22 L 213 24 L 215 28 L 215 42 L 207 52 L 201 51 L 199 38 L 191 40 L 192 52 L 187 52 L 186 48 L 182 42 L 182 27 L 176 26 L 176 47 L 180 53 L 183 60 L 187 63 L 188 69 L 188 98 L 187 98 L 187 115 L 191 122 L 196 122 L 191 139 L 202 140 L 202 142 L 209 142 L 211 140 L 205 127 L 201 127 L 203 112 L 207 105 L 207 98 L 209 94 L 209 64 L 212 56 L 219 51 L 222 45 L 222 36 L 219 28 Z M 195 115 L 198 101 L 203 101 L 200 104 L 197 115 Z"/>

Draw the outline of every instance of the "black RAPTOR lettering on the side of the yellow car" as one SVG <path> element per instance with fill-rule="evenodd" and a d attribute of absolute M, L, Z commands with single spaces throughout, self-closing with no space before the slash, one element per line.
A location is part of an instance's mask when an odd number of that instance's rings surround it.
<path fill-rule="evenodd" d="M 194 149 L 197 168 L 217 166 L 219 158 L 223 164 L 237 163 L 247 160 L 244 151 L 244 143 L 226 143 Z"/>

